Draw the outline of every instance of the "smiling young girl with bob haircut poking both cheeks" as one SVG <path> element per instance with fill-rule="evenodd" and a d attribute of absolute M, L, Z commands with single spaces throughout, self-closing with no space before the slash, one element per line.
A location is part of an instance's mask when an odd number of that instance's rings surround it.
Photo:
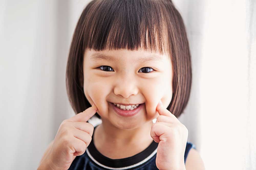
<path fill-rule="evenodd" d="M 185 26 L 171 0 L 91 1 L 67 63 L 78 114 L 61 123 L 38 169 L 204 169 L 177 119 L 191 78 Z M 94 114 L 102 120 L 95 127 Z"/>

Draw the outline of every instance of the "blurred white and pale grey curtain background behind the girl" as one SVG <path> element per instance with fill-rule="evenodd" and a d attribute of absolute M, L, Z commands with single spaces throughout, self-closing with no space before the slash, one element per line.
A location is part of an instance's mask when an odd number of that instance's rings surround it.
<path fill-rule="evenodd" d="M 88 2 L 0 1 L 1 169 L 36 169 L 60 123 L 74 115 L 66 63 Z M 208 170 L 256 169 L 256 1 L 173 2 L 192 57 L 192 91 L 179 117 L 188 141 Z"/>

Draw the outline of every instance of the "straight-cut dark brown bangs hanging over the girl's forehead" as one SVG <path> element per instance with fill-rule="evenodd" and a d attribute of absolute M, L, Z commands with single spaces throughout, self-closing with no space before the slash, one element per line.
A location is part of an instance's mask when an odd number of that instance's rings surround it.
<path fill-rule="evenodd" d="M 92 1 L 82 17 L 84 49 L 145 50 L 164 54 L 168 49 L 161 1 Z M 162 5 L 162 6 L 161 6 Z M 83 51 L 84 51 L 83 49 Z"/>

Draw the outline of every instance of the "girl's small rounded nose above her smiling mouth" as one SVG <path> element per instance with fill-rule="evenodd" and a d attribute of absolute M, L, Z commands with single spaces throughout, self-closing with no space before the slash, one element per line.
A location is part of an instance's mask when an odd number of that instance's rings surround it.
<path fill-rule="evenodd" d="M 134 76 L 127 76 L 126 74 L 120 79 L 117 79 L 114 87 L 114 94 L 121 95 L 124 98 L 128 98 L 131 95 L 137 95 L 138 88 L 134 80 Z"/>

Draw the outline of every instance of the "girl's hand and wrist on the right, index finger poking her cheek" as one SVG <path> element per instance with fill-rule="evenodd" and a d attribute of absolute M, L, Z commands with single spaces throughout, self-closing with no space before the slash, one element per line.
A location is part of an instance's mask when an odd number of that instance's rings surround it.
<path fill-rule="evenodd" d="M 188 129 L 163 107 L 161 100 L 156 110 L 159 116 L 150 132 L 151 137 L 158 143 L 156 166 L 160 170 L 185 170 L 184 154 Z"/>

